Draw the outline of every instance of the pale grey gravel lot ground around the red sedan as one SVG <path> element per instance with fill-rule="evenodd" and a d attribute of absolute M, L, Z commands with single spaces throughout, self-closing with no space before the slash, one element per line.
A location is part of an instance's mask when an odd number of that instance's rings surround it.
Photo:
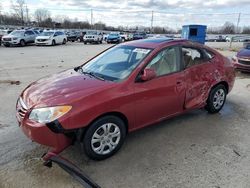
<path fill-rule="evenodd" d="M 15 103 L 32 81 L 79 65 L 109 46 L 69 43 L 0 47 L 1 188 L 81 187 L 57 165 L 51 169 L 42 165 L 40 157 L 47 148 L 31 142 L 21 132 L 15 119 Z M 229 57 L 235 54 L 223 49 L 221 52 Z M 120 152 L 105 161 L 89 160 L 78 145 L 62 155 L 104 188 L 248 188 L 249 96 L 250 76 L 239 73 L 219 114 L 195 110 L 136 131 L 127 137 Z"/>

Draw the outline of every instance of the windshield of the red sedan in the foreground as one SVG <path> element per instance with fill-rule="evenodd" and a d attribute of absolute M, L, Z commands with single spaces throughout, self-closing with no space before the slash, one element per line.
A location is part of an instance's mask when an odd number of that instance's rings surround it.
<path fill-rule="evenodd" d="M 105 80 L 121 81 L 127 78 L 151 49 L 118 46 L 107 50 L 82 66 L 83 72 Z"/>

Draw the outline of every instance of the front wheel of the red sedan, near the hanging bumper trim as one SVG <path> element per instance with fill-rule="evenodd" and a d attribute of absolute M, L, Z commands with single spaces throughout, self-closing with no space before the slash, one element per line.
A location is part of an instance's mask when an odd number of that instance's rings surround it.
<path fill-rule="evenodd" d="M 89 158 L 103 160 L 121 148 L 125 137 L 125 123 L 116 116 L 104 116 L 90 125 L 82 143 Z"/>

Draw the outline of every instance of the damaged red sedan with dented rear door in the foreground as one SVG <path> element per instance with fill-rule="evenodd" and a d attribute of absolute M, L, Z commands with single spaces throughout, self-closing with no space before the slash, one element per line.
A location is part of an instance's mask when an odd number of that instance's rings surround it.
<path fill-rule="evenodd" d="M 30 84 L 18 98 L 16 116 L 27 137 L 52 148 L 45 161 L 73 142 L 102 160 L 131 131 L 192 109 L 219 112 L 234 80 L 230 60 L 207 46 L 132 41 Z"/>

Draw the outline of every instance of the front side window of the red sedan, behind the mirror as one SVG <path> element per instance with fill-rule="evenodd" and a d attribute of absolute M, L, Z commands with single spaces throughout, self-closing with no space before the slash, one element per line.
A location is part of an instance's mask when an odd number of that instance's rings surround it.
<path fill-rule="evenodd" d="M 146 68 L 154 69 L 157 76 L 174 73 L 180 70 L 179 47 L 169 47 L 160 51 L 147 65 Z"/>

